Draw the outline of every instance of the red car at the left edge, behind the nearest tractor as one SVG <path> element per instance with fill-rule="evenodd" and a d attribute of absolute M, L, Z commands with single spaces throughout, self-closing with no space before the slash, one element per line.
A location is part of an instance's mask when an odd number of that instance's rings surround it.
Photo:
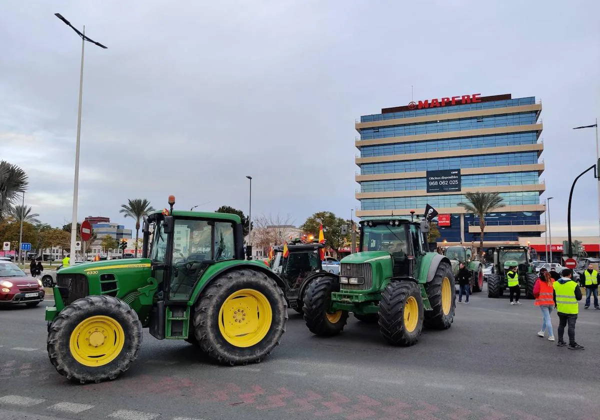
<path fill-rule="evenodd" d="M 10 261 L 0 260 L 0 306 L 25 304 L 33 307 L 44 300 L 41 281 Z"/>

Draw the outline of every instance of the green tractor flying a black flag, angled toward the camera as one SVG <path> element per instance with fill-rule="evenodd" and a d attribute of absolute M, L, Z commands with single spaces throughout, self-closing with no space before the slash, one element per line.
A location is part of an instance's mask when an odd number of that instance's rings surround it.
<path fill-rule="evenodd" d="M 332 336 L 349 313 L 379 323 L 388 343 L 412 346 L 423 326 L 450 328 L 456 306 L 448 257 L 428 252 L 427 221 L 406 217 L 361 220 L 361 252 L 341 260 L 340 275 L 314 276 L 304 293 L 304 320 L 313 334 Z"/>

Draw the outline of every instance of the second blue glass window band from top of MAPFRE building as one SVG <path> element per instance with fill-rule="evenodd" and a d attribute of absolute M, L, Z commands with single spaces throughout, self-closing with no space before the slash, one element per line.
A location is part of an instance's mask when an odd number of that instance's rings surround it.
<path fill-rule="evenodd" d="M 535 124 L 536 119 L 536 112 L 519 112 L 514 114 L 447 119 L 445 121 L 419 122 L 417 124 L 392 125 L 391 127 L 361 128 L 361 140 Z"/>

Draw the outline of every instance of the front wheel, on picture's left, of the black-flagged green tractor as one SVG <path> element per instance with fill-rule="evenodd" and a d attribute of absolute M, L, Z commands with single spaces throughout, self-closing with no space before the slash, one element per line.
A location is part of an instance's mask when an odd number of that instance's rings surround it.
<path fill-rule="evenodd" d="M 332 337 L 340 334 L 348 321 L 348 311 L 331 312 L 331 293 L 340 290 L 335 277 L 319 277 L 308 284 L 304 293 L 304 321 L 313 334 Z"/>

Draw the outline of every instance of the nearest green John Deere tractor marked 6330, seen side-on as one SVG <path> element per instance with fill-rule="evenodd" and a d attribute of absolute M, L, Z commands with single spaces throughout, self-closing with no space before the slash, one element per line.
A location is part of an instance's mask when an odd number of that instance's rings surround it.
<path fill-rule="evenodd" d="M 239 216 L 173 211 L 174 203 L 170 196 L 170 211 L 145 218 L 142 258 L 58 271 L 47 350 L 68 379 L 118 377 L 137 357 L 142 328 L 227 365 L 260 362 L 279 344 L 284 284 L 262 261 L 244 259 Z"/>

